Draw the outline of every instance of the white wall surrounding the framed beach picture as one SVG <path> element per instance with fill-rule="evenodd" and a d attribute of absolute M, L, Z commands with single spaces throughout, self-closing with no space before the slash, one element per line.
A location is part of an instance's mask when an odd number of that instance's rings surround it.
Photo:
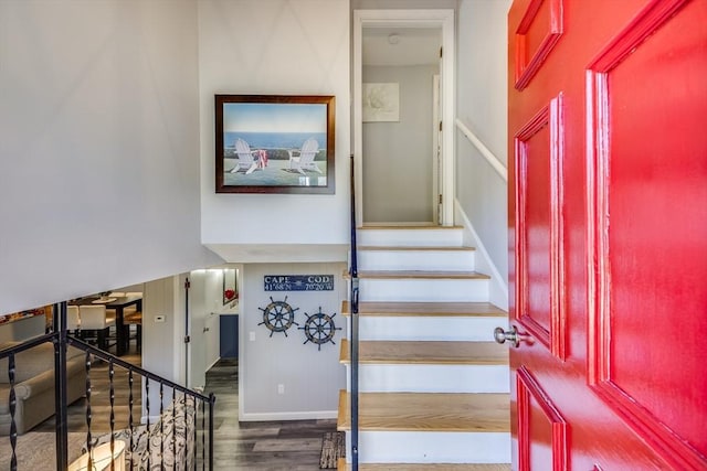
<path fill-rule="evenodd" d="M 201 0 L 201 231 L 228 261 L 289 261 L 349 240 L 348 0 Z M 336 194 L 215 194 L 214 94 L 336 96 Z M 235 248 L 234 248 L 235 247 Z M 238 247 L 243 250 L 239 251 Z M 345 249 L 338 259 L 346 259 Z"/>

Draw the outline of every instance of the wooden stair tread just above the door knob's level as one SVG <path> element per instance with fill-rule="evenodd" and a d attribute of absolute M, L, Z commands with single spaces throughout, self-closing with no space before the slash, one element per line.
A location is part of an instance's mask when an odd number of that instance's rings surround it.
<path fill-rule="evenodd" d="M 350 315 L 349 301 L 341 303 L 341 314 Z M 420 315 L 420 317 L 495 317 L 508 313 L 490 302 L 359 302 L 359 315 Z"/>

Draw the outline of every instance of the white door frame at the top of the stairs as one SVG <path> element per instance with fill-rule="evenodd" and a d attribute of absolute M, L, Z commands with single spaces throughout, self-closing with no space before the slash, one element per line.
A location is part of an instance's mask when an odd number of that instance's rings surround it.
<path fill-rule="evenodd" d="M 442 163 L 439 175 L 439 194 L 442 195 L 439 221 L 444 226 L 454 224 L 454 10 L 354 10 L 354 79 L 352 93 L 352 150 L 356 178 L 356 218 L 363 224 L 363 110 L 361 84 L 363 78 L 363 28 L 440 28 L 443 54 L 440 60 Z"/>

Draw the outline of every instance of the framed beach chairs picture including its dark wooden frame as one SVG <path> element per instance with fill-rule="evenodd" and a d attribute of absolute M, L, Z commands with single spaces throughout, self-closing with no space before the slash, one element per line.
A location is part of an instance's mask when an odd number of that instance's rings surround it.
<path fill-rule="evenodd" d="M 217 193 L 334 194 L 335 97 L 215 95 Z"/>

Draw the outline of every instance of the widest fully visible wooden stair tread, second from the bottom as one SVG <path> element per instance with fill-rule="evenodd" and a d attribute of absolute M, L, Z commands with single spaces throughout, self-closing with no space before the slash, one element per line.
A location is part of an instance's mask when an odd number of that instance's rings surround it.
<path fill-rule="evenodd" d="M 361 393 L 359 430 L 510 431 L 508 394 Z M 339 392 L 338 430 L 350 430 L 350 403 Z"/>

